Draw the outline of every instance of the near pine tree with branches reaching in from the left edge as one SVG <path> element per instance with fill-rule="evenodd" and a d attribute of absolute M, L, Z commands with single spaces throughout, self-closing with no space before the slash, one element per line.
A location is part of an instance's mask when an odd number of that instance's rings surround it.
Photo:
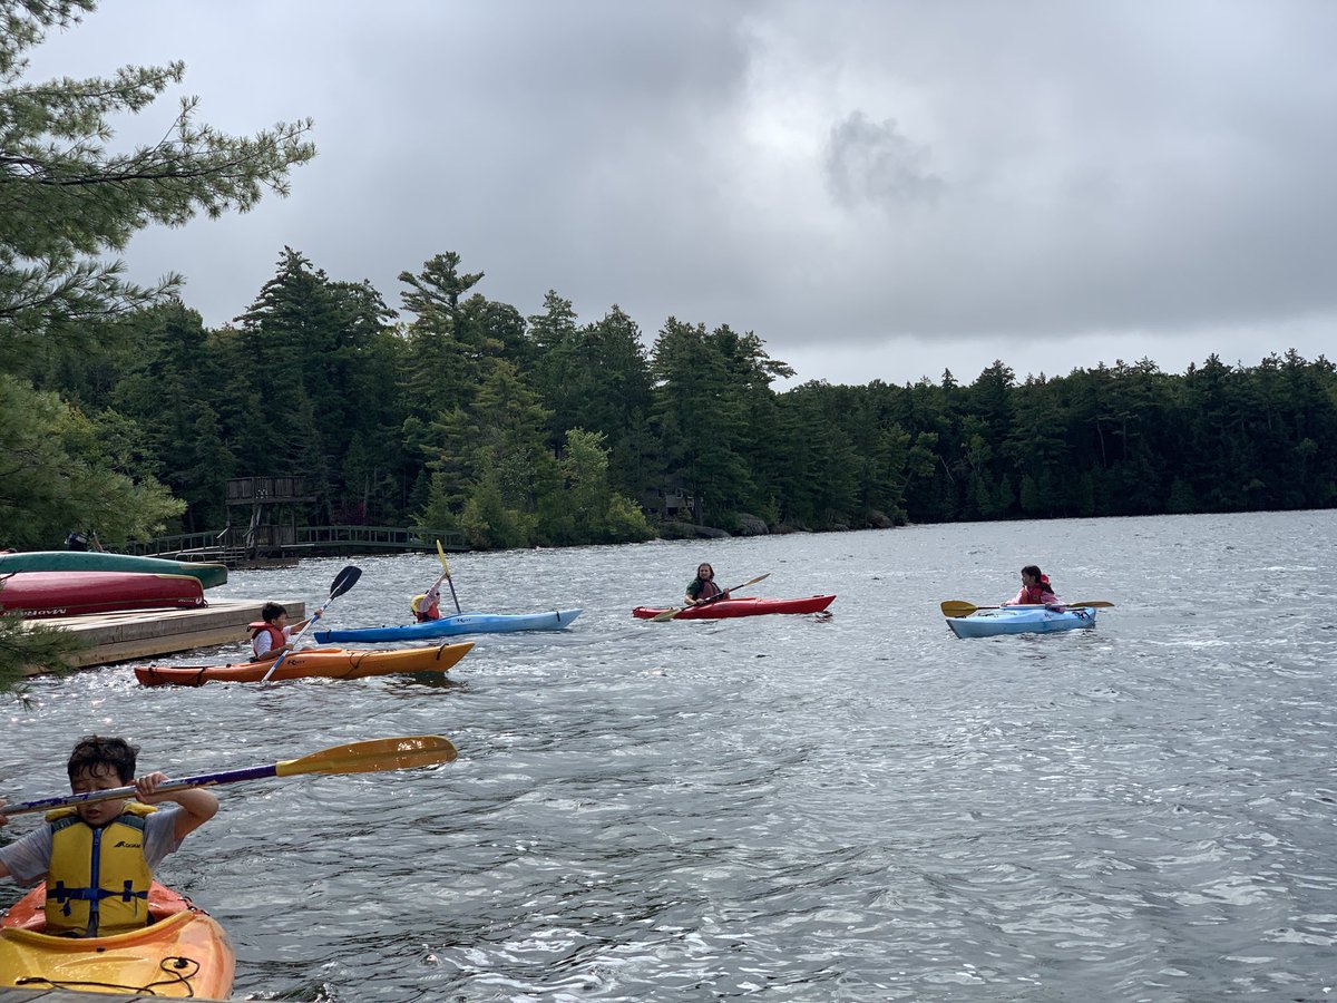
<path fill-rule="evenodd" d="M 25 53 L 52 28 L 68 28 L 92 0 L 0 0 L 0 429 L 25 452 L 0 449 L 9 476 L 0 497 L 4 543 L 49 544 L 70 526 L 142 534 L 180 506 L 162 485 L 118 472 L 107 456 L 71 453 L 87 420 L 27 378 L 28 360 L 57 344 L 78 354 L 96 321 L 156 302 L 180 280 L 127 282 L 122 251 L 146 226 L 180 226 L 198 213 L 246 211 L 266 190 L 285 193 L 289 171 L 309 160 L 309 120 L 233 138 L 197 120 L 185 100 L 163 139 L 126 152 L 104 143 L 111 118 L 139 112 L 178 83 L 182 63 L 126 67 L 111 79 L 24 80 Z M 57 535 L 59 534 L 59 535 Z M 0 623 L 0 678 L 28 661 L 52 663 L 55 647 Z"/>

